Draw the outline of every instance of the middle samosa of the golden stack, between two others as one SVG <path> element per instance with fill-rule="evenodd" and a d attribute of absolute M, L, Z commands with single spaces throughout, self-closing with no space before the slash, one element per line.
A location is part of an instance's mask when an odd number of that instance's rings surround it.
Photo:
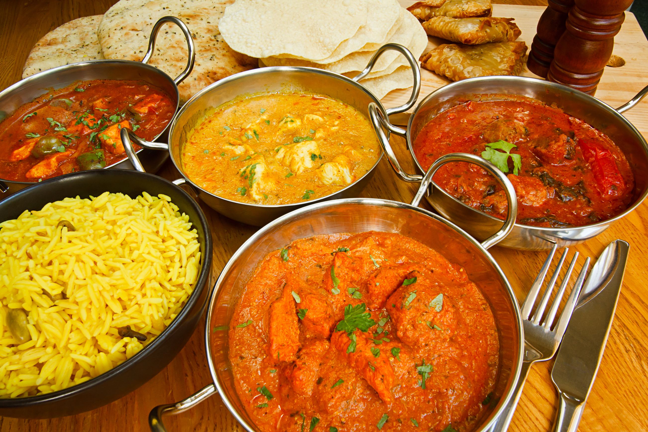
<path fill-rule="evenodd" d="M 513 42 L 522 31 L 514 18 L 449 18 L 437 16 L 423 23 L 430 36 L 449 41 L 478 45 L 489 42 Z"/>

